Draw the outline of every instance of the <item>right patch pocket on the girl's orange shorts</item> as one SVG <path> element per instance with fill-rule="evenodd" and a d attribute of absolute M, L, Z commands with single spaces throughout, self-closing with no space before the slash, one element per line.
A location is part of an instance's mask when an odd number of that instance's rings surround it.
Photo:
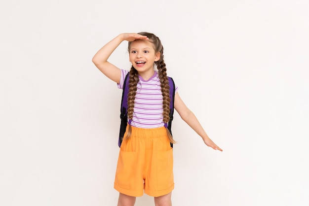
<path fill-rule="evenodd" d="M 165 190 L 174 184 L 173 148 L 168 151 L 157 152 L 158 190 Z"/>

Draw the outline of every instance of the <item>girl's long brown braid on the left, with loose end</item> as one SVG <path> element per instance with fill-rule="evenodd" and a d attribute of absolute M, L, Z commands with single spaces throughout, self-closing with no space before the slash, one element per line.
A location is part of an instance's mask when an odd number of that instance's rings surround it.
<path fill-rule="evenodd" d="M 134 110 L 134 100 L 137 90 L 137 83 L 139 81 L 137 70 L 134 67 L 131 67 L 130 74 L 129 74 L 129 92 L 128 92 L 128 119 L 133 118 L 133 110 Z M 126 135 L 126 139 L 131 136 L 131 125 L 129 124 L 128 132 Z"/>

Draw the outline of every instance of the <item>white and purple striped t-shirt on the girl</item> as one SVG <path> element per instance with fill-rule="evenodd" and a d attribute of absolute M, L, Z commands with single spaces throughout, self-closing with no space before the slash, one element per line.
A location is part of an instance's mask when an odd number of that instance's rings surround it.
<path fill-rule="evenodd" d="M 129 71 L 124 69 L 120 70 L 120 83 L 117 84 L 117 87 L 122 89 L 124 78 Z M 134 100 L 134 111 L 131 125 L 138 128 L 163 127 L 163 97 L 158 74 L 154 71 L 154 75 L 147 81 L 141 76 L 139 76 L 139 79 Z M 175 86 L 175 93 L 177 91 L 178 87 Z"/>

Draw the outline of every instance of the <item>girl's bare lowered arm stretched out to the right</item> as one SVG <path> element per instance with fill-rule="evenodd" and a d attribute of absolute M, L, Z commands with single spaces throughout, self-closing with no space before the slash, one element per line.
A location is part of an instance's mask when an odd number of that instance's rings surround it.
<path fill-rule="evenodd" d="M 218 147 L 206 134 L 197 118 L 193 112 L 186 106 L 186 104 L 181 100 L 178 95 L 178 92 L 175 94 L 174 107 L 179 113 L 180 117 L 204 140 L 207 146 L 212 147 L 213 149 L 223 151 Z"/>

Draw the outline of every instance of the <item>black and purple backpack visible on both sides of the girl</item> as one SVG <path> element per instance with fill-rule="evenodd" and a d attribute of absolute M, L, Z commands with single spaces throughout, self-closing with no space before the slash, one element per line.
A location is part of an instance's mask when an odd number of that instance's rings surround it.
<path fill-rule="evenodd" d="M 130 72 L 129 72 L 130 73 Z M 127 108 L 128 108 L 128 93 L 129 93 L 129 73 L 126 74 L 123 82 L 123 88 L 122 88 L 122 98 L 121 98 L 121 105 L 120 105 L 120 131 L 119 131 L 119 140 L 118 140 L 118 146 L 120 147 L 125 129 L 128 122 L 128 115 L 127 115 Z M 172 121 L 173 121 L 173 114 L 174 114 L 174 98 L 175 98 L 175 83 L 174 80 L 168 76 L 168 84 L 169 84 L 169 94 L 171 102 L 169 104 L 169 122 L 167 124 L 167 129 L 172 135 L 171 127 L 172 127 Z M 171 95 L 172 94 L 172 95 Z M 173 144 L 171 143 L 171 147 L 173 147 Z"/>

